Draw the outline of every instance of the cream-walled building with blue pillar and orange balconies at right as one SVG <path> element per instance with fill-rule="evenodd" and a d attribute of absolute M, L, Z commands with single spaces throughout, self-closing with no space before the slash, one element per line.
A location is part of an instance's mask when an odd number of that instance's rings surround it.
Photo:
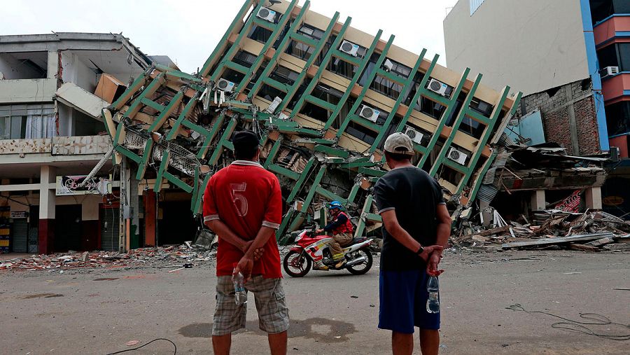
<path fill-rule="evenodd" d="M 444 41 L 449 67 L 524 92 L 516 117 L 542 125 L 526 138 L 570 155 L 610 151 L 603 209 L 628 215 L 630 1 L 460 0 Z"/>

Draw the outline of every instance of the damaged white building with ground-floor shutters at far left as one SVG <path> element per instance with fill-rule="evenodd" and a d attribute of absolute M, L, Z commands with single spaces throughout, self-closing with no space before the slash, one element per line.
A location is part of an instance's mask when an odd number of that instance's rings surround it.
<path fill-rule="evenodd" d="M 77 185 L 111 149 L 101 110 L 151 62 L 119 34 L 0 36 L 0 251 L 118 250 L 111 162 Z"/>

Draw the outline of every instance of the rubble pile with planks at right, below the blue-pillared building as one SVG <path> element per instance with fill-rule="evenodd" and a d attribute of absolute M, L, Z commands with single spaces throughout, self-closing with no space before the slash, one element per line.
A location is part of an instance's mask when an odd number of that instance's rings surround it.
<path fill-rule="evenodd" d="M 630 249 L 630 222 L 602 211 L 573 213 L 558 209 L 536 211 L 533 221 L 503 221 L 495 228 L 467 228 L 451 243 L 486 249 L 564 247 L 581 251 Z M 524 224 L 523 224 L 524 223 Z"/>

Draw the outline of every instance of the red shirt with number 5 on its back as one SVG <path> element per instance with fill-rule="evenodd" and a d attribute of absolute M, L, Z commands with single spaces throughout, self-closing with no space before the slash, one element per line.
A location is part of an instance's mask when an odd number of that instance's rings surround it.
<path fill-rule="evenodd" d="M 261 226 L 277 229 L 282 220 L 282 195 L 278 178 L 262 165 L 237 160 L 214 174 L 204 193 L 204 221 L 221 220 L 235 235 L 253 240 Z M 218 239 L 216 275 L 231 275 L 243 252 Z M 265 279 L 282 277 L 280 253 L 273 236 L 265 253 L 253 266 L 252 274 Z"/>

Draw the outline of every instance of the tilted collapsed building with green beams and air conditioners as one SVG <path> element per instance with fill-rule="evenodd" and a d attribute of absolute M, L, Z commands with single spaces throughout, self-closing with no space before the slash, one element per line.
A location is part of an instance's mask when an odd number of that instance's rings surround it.
<path fill-rule="evenodd" d="M 519 92 L 492 90 L 481 74 L 450 71 L 438 55 L 398 48 L 394 36 L 365 34 L 339 13 L 309 11 L 309 1 L 271 3 L 246 0 L 197 74 L 153 64 L 103 110 L 110 154 L 123 165 L 120 249 L 134 245 L 140 209 L 144 244 L 158 243 L 151 204 L 169 190 L 183 191 L 199 214 L 242 129 L 259 134 L 261 163 L 281 181 L 281 241 L 321 222 L 330 200 L 349 209 L 356 235 L 377 226 L 371 188 L 386 173 L 381 148 L 393 132 L 412 137 L 414 165 L 439 181 L 451 209 L 475 200 Z M 144 206 L 125 198 L 138 194 Z"/>

